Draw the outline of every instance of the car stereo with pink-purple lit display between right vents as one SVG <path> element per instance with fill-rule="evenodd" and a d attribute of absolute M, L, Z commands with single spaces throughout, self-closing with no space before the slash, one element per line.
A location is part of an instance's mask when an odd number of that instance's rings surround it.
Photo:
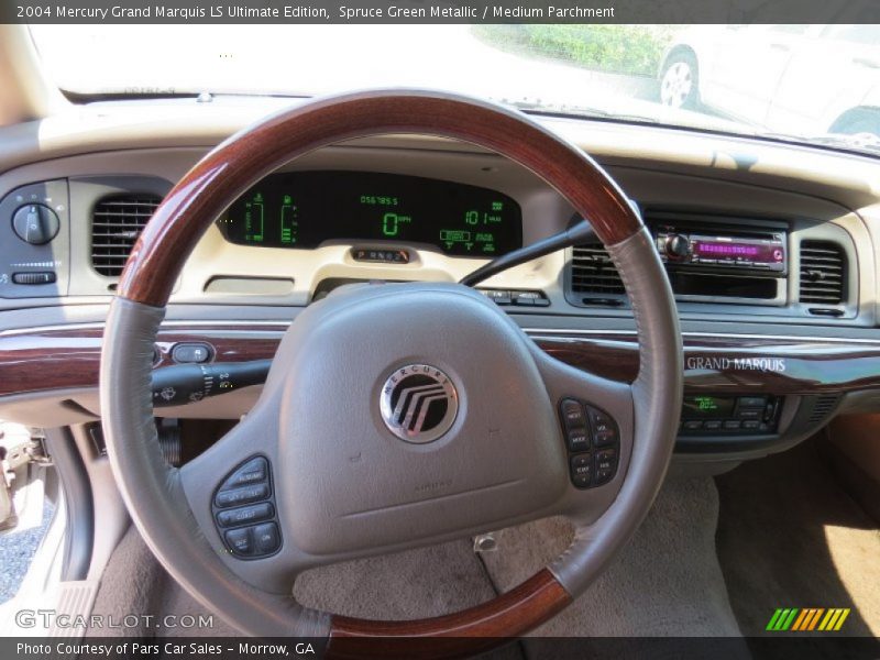
<path fill-rule="evenodd" d="M 705 234 L 657 228 L 657 250 L 668 266 L 689 266 L 780 276 L 788 270 L 785 233 Z"/>

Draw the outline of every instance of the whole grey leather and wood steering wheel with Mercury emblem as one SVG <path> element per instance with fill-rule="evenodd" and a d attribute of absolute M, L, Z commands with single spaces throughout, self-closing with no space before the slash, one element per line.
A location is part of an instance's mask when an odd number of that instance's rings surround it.
<path fill-rule="evenodd" d="M 153 344 L 199 237 L 280 165 L 384 133 L 495 151 L 588 219 L 631 300 L 638 377 L 614 382 L 553 360 L 494 302 L 460 284 L 344 287 L 292 323 L 253 410 L 197 459 L 170 468 L 153 424 Z M 666 475 L 682 373 L 675 307 L 651 238 L 595 162 L 516 111 L 433 91 L 380 90 L 275 114 L 183 177 L 119 283 L 100 396 L 108 453 L 132 518 L 200 603 L 242 634 L 329 638 L 340 657 L 372 656 L 364 638 L 383 638 L 394 654 L 389 640 L 430 636 L 420 656 L 444 658 L 528 631 L 612 561 Z M 551 515 L 575 526 L 571 547 L 513 591 L 463 612 L 365 620 L 302 607 L 292 595 L 309 568 Z"/>

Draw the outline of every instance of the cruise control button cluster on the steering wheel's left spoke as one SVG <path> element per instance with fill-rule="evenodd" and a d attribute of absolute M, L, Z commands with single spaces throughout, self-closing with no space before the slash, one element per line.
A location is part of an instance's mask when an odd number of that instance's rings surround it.
<path fill-rule="evenodd" d="M 223 544 L 237 559 L 262 559 L 282 547 L 268 459 L 252 457 L 230 472 L 213 496 Z"/>

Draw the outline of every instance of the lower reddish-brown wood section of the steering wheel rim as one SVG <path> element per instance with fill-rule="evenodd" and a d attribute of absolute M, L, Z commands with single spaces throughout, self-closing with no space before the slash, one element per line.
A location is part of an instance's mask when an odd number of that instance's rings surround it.
<path fill-rule="evenodd" d="M 330 619 L 328 658 L 465 658 L 522 635 L 561 612 L 571 596 L 547 569 L 497 598 L 435 618 Z"/>

